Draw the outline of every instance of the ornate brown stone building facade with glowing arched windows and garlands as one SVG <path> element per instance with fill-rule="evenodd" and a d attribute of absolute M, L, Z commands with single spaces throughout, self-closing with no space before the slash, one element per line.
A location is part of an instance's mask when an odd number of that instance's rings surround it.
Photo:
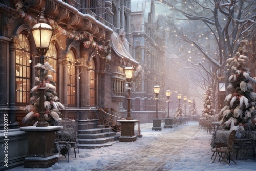
<path fill-rule="evenodd" d="M 99 108 L 119 110 L 123 69 L 138 66 L 130 55 L 130 1 L 4 0 L 0 9 L 1 125 L 8 114 L 10 126 L 23 126 L 39 62 L 31 28 L 42 11 L 54 29 L 44 62 L 56 70 L 60 117 L 96 124 Z"/>

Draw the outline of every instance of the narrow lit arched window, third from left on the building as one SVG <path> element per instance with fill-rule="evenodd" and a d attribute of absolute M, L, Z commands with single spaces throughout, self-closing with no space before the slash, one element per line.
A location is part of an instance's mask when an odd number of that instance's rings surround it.
<path fill-rule="evenodd" d="M 73 50 L 69 52 L 69 59 L 71 61 L 75 60 L 75 53 Z M 67 92 L 67 103 L 69 106 L 75 106 L 75 66 L 72 62 L 68 65 L 68 92 Z"/>

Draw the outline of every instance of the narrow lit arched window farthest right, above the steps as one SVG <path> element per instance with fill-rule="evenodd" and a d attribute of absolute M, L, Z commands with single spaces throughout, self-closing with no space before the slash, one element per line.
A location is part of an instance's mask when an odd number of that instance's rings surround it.
<path fill-rule="evenodd" d="M 96 69 L 93 59 L 90 70 L 90 106 L 96 106 Z"/>

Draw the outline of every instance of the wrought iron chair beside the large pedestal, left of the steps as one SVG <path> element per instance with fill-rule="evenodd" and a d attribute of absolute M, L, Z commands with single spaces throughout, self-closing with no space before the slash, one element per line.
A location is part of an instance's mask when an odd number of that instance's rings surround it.
<path fill-rule="evenodd" d="M 64 118 L 59 121 L 56 121 L 55 126 L 63 126 L 63 129 L 56 131 L 55 135 L 55 147 L 59 153 L 61 153 L 66 158 L 66 153 L 68 153 L 68 162 L 69 162 L 69 149 L 74 149 L 74 154 L 76 158 L 76 149 L 79 153 L 79 149 L 77 146 L 77 131 L 76 131 L 76 122 Z"/>

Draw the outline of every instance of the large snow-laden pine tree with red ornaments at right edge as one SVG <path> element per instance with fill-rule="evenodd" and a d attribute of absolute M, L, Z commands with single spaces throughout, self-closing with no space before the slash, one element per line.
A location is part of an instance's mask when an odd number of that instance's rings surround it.
<path fill-rule="evenodd" d="M 240 124 L 255 130 L 256 93 L 253 92 L 251 83 L 256 83 L 256 80 L 250 76 L 247 68 L 248 57 L 243 44 L 247 44 L 247 41 L 241 41 L 238 52 L 227 60 L 227 68 L 232 72 L 227 86 L 229 94 L 218 116 L 220 125 L 224 129 Z"/>

